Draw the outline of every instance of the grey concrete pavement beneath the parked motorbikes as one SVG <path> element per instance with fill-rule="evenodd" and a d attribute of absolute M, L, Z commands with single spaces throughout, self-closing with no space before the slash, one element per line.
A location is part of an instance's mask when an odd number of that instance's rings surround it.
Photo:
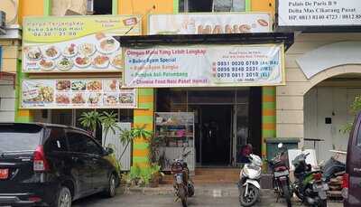
<path fill-rule="evenodd" d="M 118 189 L 118 195 L 112 199 L 104 199 L 100 195 L 91 196 L 77 202 L 75 207 L 180 207 L 180 202 L 174 202 L 171 185 L 161 186 L 160 188 L 141 189 Z M 196 185 L 196 194 L 189 199 L 189 206 L 202 207 L 239 207 L 238 191 L 236 184 L 203 184 Z M 260 207 L 282 207 L 286 203 L 281 199 L 276 202 L 273 191 L 263 190 L 261 192 L 260 202 L 255 206 Z M 296 198 L 293 199 L 293 206 L 303 206 Z M 342 202 L 329 202 L 329 207 L 341 207 Z"/>

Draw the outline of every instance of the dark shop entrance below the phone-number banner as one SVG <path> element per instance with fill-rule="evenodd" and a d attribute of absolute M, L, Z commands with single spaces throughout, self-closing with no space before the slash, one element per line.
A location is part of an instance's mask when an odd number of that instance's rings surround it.
<path fill-rule="evenodd" d="M 194 115 L 197 165 L 236 165 L 247 143 L 261 155 L 261 87 L 157 89 L 156 100 L 156 111 Z"/>

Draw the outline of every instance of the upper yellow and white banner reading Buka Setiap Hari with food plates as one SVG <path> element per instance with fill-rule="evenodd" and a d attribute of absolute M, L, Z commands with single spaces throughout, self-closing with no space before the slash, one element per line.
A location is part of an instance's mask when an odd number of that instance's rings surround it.
<path fill-rule="evenodd" d="M 23 72 L 122 71 L 118 35 L 141 34 L 135 15 L 27 17 Z"/>

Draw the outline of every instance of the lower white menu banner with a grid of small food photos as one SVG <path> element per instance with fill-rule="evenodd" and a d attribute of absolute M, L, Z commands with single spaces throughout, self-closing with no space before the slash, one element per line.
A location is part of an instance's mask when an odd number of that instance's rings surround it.
<path fill-rule="evenodd" d="M 23 80 L 21 108 L 136 108 L 136 95 L 118 79 Z"/>

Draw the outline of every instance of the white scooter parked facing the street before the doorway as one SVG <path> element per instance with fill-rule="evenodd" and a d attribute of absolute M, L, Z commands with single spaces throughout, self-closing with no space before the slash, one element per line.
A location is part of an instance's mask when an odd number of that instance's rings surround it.
<path fill-rule="evenodd" d="M 238 182 L 239 202 L 242 206 L 252 206 L 260 197 L 260 178 L 262 160 L 258 155 L 248 156 L 249 163 L 245 164 L 239 174 Z"/>

